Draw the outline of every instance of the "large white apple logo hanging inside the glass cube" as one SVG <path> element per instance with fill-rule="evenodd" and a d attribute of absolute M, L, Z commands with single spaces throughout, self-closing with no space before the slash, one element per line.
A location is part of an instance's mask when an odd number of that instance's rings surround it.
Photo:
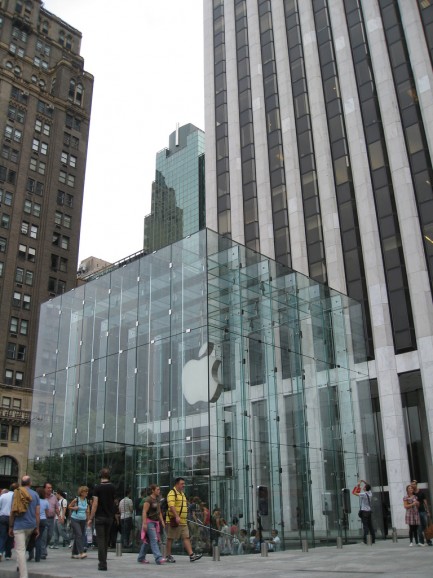
<path fill-rule="evenodd" d="M 223 390 L 220 367 L 221 360 L 216 357 L 213 343 L 204 343 L 198 352 L 198 359 L 185 363 L 182 369 L 182 391 L 190 405 L 199 401 L 214 403 L 218 400 Z"/>

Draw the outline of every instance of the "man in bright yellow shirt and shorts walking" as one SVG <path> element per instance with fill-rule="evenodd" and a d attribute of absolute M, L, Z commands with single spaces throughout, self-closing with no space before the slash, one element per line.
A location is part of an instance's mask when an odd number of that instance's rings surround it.
<path fill-rule="evenodd" d="M 184 478 L 176 478 L 174 487 L 167 495 L 167 556 L 166 561 L 174 563 L 176 560 L 171 555 L 171 546 L 173 540 L 183 540 L 183 546 L 189 555 L 190 562 L 200 560 L 203 554 L 195 554 L 192 551 L 191 541 L 189 539 L 187 515 L 188 515 L 188 501 L 183 492 L 185 489 Z"/>

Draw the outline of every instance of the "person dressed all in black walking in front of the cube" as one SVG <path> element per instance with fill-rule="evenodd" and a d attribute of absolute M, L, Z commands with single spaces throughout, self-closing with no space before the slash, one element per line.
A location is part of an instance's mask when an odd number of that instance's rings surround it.
<path fill-rule="evenodd" d="M 93 492 L 92 511 L 87 525 L 95 519 L 96 539 L 98 541 L 98 570 L 107 570 L 108 541 L 114 518 L 114 498 L 116 488 L 110 481 L 110 470 L 103 468 L 100 472 L 101 483 Z"/>

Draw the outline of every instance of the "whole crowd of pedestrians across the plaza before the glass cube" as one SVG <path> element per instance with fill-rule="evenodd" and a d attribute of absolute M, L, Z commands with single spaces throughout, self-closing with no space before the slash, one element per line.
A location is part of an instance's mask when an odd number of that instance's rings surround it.
<path fill-rule="evenodd" d="M 78 560 L 86 558 L 87 549 L 96 543 L 98 570 L 106 571 L 107 552 L 115 546 L 118 534 L 125 548 L 130 548 L 137 538 L 141 542 L 139 564 L 149 564 L 150 553 L 157 565 L 175 563 L 172 546 L 178 540 L 191 562 L 199 560 L 202 552 L 212 552 L 216 547 L 221 555 L 260 552 L 263 544 L 270 552 L 280 549 L 276 529 L 265 539 L 260 524 L 259 529 L 247 532 L 239 528 L 239 519 L 234 517 L 229 525 L 218 506 L 211 512 L 197 496 L 188 501 L 184 490 L 185 479 L 179 477 L 165 498 L 160 487 L 152 484 L 141 491 L 135 502 L 129 490 L 119 500 L 110 471 L 103 468 L 92 496 L 89 497 L 87 486 L 80 486 L 68 503 L 66 494 L 61 490 L 53 492 L 51 483 L 33 490 L 30 477 L 24 476 L 20 485 L 12 484 L 9 491 L 3 490 L 0 495 L 0 561 L 11 559 L 14 548 L 19 576 L 27 578 L 27 561 L 45 560 L 49 548 L 69 546 L 71 557 Z M 371 486 L 360 480 L 352 493 L 359 498 L 364 543 L 370 536 L 374 544 Z M 432 546 L 433 526 L 429 527 L 427 498 L 416 480 L 406 487 L 403 507 L 409 545 Z M 165 555 L 161 548 L 163 542 Z"/>

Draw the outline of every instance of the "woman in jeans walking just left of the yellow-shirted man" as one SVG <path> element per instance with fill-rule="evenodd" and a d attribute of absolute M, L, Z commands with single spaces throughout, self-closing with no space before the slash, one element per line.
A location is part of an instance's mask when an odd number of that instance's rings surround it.
<path fill-rule="evenodd" d="M 165 564 L 166 559 L 162 556 L 161 550 L 159 549 L 159 538 L 161 528 L 165 527 L 165 522 L 162 517 L 161 508 L 159 505 L 159 496 L 161 494 L 161 488 L 156 484 L 150 486 L 150 496 L 148 496 L 143 504 L 142 513 L 142 533 L 143 542 L 141 544 L 140 553 L 138 554 L 137 562 L 141 564 L 148 564 L 149 561 L 146 560 L 146 551 L 148 543 L 152 554 L 155 558 L 155 562 L 158 565 Z M 147 539 L 147 542 L 144 540 Z"/>

